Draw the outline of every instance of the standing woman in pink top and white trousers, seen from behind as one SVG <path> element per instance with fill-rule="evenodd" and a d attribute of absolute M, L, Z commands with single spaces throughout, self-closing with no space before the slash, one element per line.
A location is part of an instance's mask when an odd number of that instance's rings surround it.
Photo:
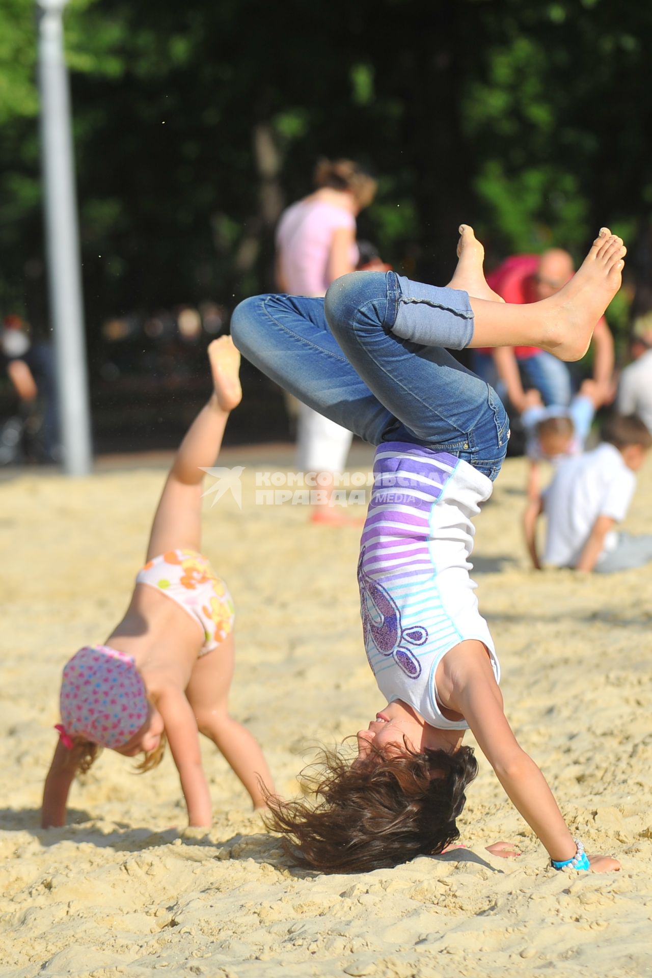
<path fill-rule="evenodd" d="M 283 292 L 312 297 L 358 264 L 356 215 L 373 200 L 376 182 L 350 159 L 322 160 L 315 172 L 314 194 L 287 207 L 277 229 L 277 286 Z M 297 468 L 305 472 L 341 471 L 351 432 L 307 405 L 298 404 Z M 320 483 L 326 481 L 324 477 Z M 341 522 L 330 505 L 330 486 L 315 522 Z"/>

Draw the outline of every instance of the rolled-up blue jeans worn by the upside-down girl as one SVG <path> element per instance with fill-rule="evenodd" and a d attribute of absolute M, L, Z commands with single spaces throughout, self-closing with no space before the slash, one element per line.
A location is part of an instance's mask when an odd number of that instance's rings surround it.
<path fill-rule="evenodd" d="M 494 390 L 442 347 L 392 333 L 399 312 L 408 327 L 442 317 L 458 322 L 465 293 L 433 288 L 436 302 L 404 299 L 394 272 L 354 272 L 334 287 L 326 299 L 256 295 L 240 302 L 231 322 L 239 350 L 299 400 L 372 445 L 425 445 L 495 479 L 509 422 Z M 418 293 L 429 288 L 418 284 Z"/>

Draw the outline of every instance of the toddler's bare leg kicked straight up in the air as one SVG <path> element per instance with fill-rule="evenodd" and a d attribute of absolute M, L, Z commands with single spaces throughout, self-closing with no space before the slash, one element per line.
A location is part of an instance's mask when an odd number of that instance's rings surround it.
<path fill-rule="evenodd" d="M 230 412 L 239 405 L 239 352 L 231 336 L 208 347 L 214 392 L 179 447 L 153 518 L 147 559 L 177 548 L 201 549 L 203 468 L 215 465 Z"/>

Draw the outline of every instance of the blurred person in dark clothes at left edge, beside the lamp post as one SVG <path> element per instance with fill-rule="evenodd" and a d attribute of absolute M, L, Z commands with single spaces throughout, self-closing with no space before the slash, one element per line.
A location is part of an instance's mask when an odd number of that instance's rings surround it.
<path fill-rule="evenodd" d="M 23 428 L 37 446 L 36 461 L 58 462 L 59 417 L 54 351 L 50 343 L 34 342 L 20 316 L 5 316 L 0 332 L 0 360 L 21 402 Z M 37 401 L 42 401 L 42 423 Z M 32 430 L 33 429 L 33 430 Z"/>

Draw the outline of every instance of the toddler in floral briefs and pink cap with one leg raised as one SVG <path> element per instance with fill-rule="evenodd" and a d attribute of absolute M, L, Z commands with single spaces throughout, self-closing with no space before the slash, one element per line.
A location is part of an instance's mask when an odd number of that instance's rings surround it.
<path fill-rule="evenodd" d="M 124 618 L 105 645 L 86 645 L 65 665 L 62 723 L 43 794 L 42 825 L 65 825 L 75 774 L 101 747 L 144 753 L 139 770 L 169 742 L 191 825 L 210 825 L 199 733 L 211 739 L 254 807 L 273 790 L 262 751 L 229 716 L 234 673 L 234 604 L 201 547 L 202 468 L 215 464 L 230 412 L 238 406 L 239 352 L 231 337 L 208 347 L 214 393 L 191 425 L 154 515 L 147 562 Z"/>

